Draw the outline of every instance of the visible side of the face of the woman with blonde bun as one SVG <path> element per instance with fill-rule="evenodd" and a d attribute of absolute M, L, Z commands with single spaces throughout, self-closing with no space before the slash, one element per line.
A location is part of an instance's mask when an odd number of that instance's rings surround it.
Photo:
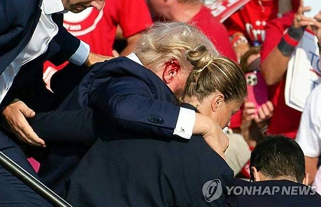
<path fill-rule="evenodd" d="M 220 104 L 221 106 L 218 106 L 216 111 L 211 112 L 210 117 L 224 129 L 228 126 L 231 116 L 240 110 L 242 103 L 239 101 L 222 101 Z"/>

